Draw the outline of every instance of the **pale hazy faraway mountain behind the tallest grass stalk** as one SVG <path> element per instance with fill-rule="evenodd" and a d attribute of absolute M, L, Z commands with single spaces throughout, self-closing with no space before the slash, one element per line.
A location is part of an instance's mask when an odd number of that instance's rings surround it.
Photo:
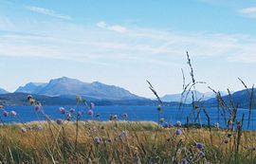
<path fill-rule="evenodd" d="M 195 94 L 196 94 L 196 99 L 197 100 L 209 100 L 209 99 L 215 97 L 215 94 L 212 93 L 212 92 L 201 93 L 201 92 L 195 91 Z M 187 99 L 186 99 L 186 96 L 187 96 Z M 170 95 L 163 96 L 161 98 L 161 100 L 179 102 L 181 100 L 181 97 L 182 97 L 181 93 L 180 94 L 170 94 Z M 190 93 L 188 91 L 185 92 L 183 94 L 182 101 L 185 102 L 185 103 L 192 103 L 192 92 L 190 92 Z"/>

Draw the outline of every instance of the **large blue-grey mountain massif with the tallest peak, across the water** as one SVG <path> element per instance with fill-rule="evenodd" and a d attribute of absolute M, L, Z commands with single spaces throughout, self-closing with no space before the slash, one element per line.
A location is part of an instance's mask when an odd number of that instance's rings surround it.
<path fill-rule="evenodd" d="M 19 87 L 16 91 L 51 97 L 62 96 L 64 98 L 74 98 L 81 95 L 90 100 L 143 100 L 130 93 L 128 90 L 115 85 L 107 85 L 101 82 L 81 82 L 67 77 L 51 80 L 48 83 L 29 82 L 25 86 Z"/>

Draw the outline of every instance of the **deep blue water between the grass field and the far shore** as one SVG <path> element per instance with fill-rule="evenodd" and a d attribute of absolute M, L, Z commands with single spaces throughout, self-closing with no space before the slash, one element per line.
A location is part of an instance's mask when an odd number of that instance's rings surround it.
<path fill-rule="evenodd" d="M 65 109 L 68 109 L 74 106 L 64 106 Z M 17 112 L 17 118 L 5 118 L 3 117 L 3 111 L 1 111 L 1 118 L 4 122 L 19 122 L 19 121 L 31 121 L 31 120 L 44 120 L 44 117 L 40 113 L 35 113 L 33 107 L 31 106 L 8 106 L 5 108 L 7 111 L 14 110 Z M 59 106 L 44 106 L 44 110 L 48 116 L 52 119 L 63 118 L 64 115 L 60 113 Z M 90 118 L 85 111 L 85 107 L 80 107 L 80 111 L 83 111 L 82 120 L 92 119 Z M 223 117 L 219 117 L 218 120 L 218 112 L 216 108 L 207 109 L 207 112 L 210 116 L 210 123 L 213 125 L 215 122 L 219 122 L 221 126 L 224 127 L 225 121 Z M 110 115 L 117 115 L 119 119 L 121 119 L 122 114 L 128 114 L 128 120 L 153 120 L 157 122 L 158 114 L 155 106 L 96 106 L 94 109 L 94 114 L 101 113 L 101 117 L 98 118 L 100 120 L 108 120 Z M 243 113 L 245 114 L 245 120 L 243 128 L 247 129 L 247 117 L 248 111 L 247 109 L 239 109 L 237 118 L 242 118 Z M 186 122 L 186 118 L 191 114 L 190 108 L 183 108 L 182 110 L 178 110 L 177 107 L 174 106 L 164 106 L 162 111 L 160 112 L 160 118 L 165 118 L 165 121 L 175 123 L 176 120 L 182 121 L 182 123 Z M 203 111 L 200 114 L 201 120 L 203 123 L 207 124 L 207 118 Z M 227 120 L 229 114 L 227 113 Z M 97 119 L 97 118 L 95 118 Z M 192 122 L 192 118 L 191 121 Z M 251 111 L 251 119 L 249 130 L 256 130 L 256 110 Z"/>

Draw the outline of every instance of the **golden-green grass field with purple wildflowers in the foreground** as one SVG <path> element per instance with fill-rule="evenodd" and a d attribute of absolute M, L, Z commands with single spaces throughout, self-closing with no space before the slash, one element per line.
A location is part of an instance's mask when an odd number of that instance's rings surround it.
<path fill-rule="evenodd" d="M 238 144 L 236 131 L 217 128 L 115 120 L 58 123 L 29 122 L 26 130 L 24 124 L 1 126 L 2 163 L 256 163 L 255 132 L 242 132 Z"/>

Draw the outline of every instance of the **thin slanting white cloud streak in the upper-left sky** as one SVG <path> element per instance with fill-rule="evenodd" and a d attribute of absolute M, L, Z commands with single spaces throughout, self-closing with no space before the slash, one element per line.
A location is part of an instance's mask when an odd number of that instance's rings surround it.
<path fill-rule="evenodd" d="M 64 19 L 64 20 L 68 20 L 68 21 L 72 20 L 72 18 L 70 16 L 59 14 L 55 10 L 52 10 L 52 9 L 45 9 L 45 8 L 32 7 L 32 6 L 26 6 L 25 8 L 30 11 L 42 13 L 42 14 L 52 16 L 55 18 Z"/>

